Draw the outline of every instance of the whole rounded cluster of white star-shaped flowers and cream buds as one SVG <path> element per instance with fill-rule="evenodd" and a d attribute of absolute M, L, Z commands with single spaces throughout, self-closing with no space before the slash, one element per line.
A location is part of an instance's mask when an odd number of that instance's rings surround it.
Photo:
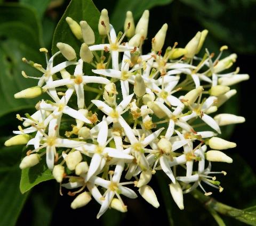
<path fill-rule="evenodd" d="M 171 195 L 181 210 L 183 194 L 198 186 L 205 195 L 212 194 L 205 184 L 221 192 L 215 175 L 226 172 L 212 172 L 211 164 L 232 163 L 223 151 L 236 144 L 218 137 L 220 128 L 245 121 L 242 116 L 217 113 L 236 94 L 230 86 L 249 79 L 239 69 L 223 73 L 236 61 L 236 54 L 221 59 L 227 49 L 223 46 L 215 58 L 207 49 L 203 57 L 196 56 L 207 30 L 197 32 L 184 48 L 174 43 L 163 51 L 166 23 L 151 39 L 151 52 L 142 54 L 148 10 L 137 26 L 128 11 L 124 32 L 116 35 L 103 9 L 98 26 L 103 44 L 95 44 L 86 21 L 77 23 L 69 17 L 66 21 L 81 40 L 78 58 L 66 43 L 58 43 L 59 51 L 49 60 L 47 49 L 40 49 L 46 55 L 46 69 L 23 58 L 43 75 L 35 78 L 22 71 L 23 77 L 38 79 L 38 85 L 14 97 L 47 93 L 51 99 L 37 103 L 32 115 L 17 115 L 23 127 L 13 131 L 16 136 L 5 145 L 30 148 L 20 168 L 45 161 L 61 188 L 76 196 L 71 208 L 86 205 L 92 196 L 101 205 L 98 218 L 109 207 L 126 212 L 121 195 L 137 198 L 137 189 L 157 208 L 157 196 L 148 185 L 157 171 L 169 178 Z M 66 60 L 54 65 L 59 54 Z M 84 74 L 85 64 L 94 67 L 93 75 Z M 89 91 L 95 97 L 85 104 Z"/>

